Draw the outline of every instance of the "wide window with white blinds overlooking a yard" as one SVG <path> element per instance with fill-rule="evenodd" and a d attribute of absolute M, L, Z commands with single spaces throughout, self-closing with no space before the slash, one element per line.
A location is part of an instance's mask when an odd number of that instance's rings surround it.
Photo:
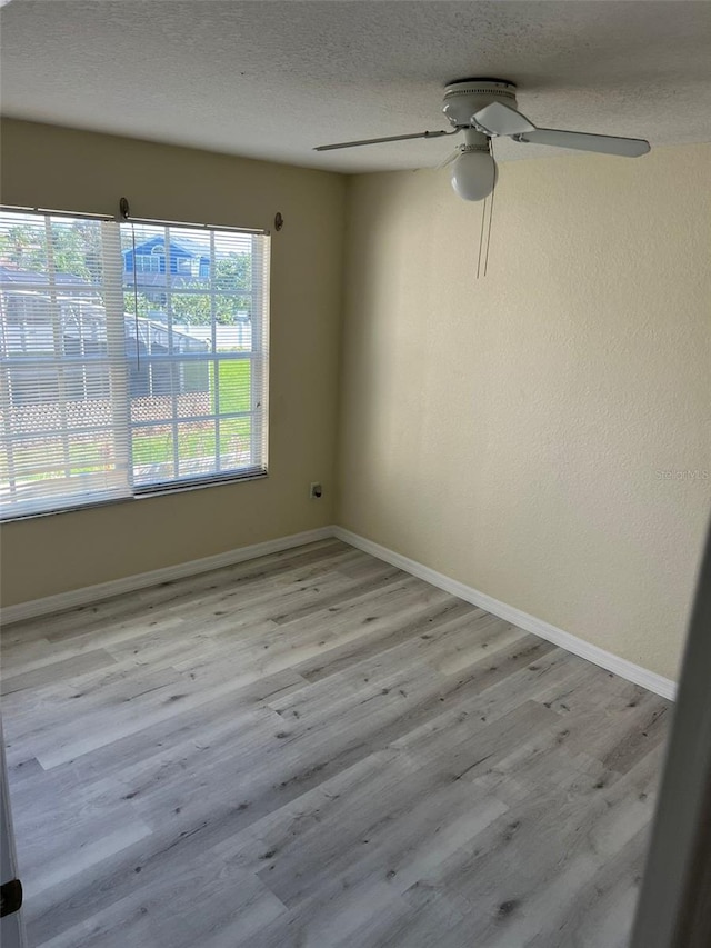
<path fill-rule="evenodd" d="M 0 211 L 4 518 L 267 470 L 269 237 Z"/>

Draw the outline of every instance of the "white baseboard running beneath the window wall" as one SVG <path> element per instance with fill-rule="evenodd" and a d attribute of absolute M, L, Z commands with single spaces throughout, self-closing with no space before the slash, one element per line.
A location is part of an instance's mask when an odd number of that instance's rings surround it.
<path fill-rule="evenodd" d="M 293 547 L 302 547 L 317 540 L 327 540 L 334 536 L 333 527 L 319 527 L 317 530 L 306 530 L 302 533 L 292 533 L 289 537 L 278 537 L 276 540 L 266 540 L 262 543 L 252 543 L 249 547 L 239 547 L 224 553 L 212 557 L 190 560 L 189 562 L 176 563 L 161 569 L 152 569 L 149 572 L 139 572 L 122 579 L 113 579 L 110 582 L 99 582 L 96 586 L 84 586 L 81 589 L 70 589 L 68 592 L 59 592 L 57 596 L 46 596 L 42 599 L 31 599 L 28 602 L 19 602 L 17 606 L 7 606 L 2 609 L 2 625 L 19 622 L 22 619 L 34 619 L 38 616 L 48 616 L 51 612 L 61 612 L 73 609 L 77 606 L 87 606 L 90 602 L 99 602 L 122 592 L 133 592 L 137 589 L 146 589 L 149 586 L 159 586 L 161 582 L 170 582 L 173 579 L 184 579 L 189 576 L 198 576 L 209 572 L 211 569 L 221 569 L 224 566 L 233 566 L 244 560 L 264 557 L 269 553 L 278 553 L 290 550 Z"/>

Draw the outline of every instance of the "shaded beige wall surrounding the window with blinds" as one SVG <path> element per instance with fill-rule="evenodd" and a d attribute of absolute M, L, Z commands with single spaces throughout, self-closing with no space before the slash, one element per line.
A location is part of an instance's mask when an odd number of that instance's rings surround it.
<path fill-rule="evenodd" d="M 344 179 L 6 121 L 3 203 L 284 229 L 272 236 L 270 476 L 8 523 L 10 605 L 331 523 Z M 312 501 L 309 483 L 324 497 Z"/>

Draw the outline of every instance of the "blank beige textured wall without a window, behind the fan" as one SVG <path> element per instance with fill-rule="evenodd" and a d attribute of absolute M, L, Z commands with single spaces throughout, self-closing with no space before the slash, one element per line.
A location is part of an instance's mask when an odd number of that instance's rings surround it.
<path fill-rule="evenodd" d="M 673 677 L 711 500 L 711 146 L 349 194 L 337 519 Z"/>

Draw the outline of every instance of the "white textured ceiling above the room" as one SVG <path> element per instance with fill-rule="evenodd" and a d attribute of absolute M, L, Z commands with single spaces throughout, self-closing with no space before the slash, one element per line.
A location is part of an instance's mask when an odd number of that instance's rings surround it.
<path fill-rule="evenodd" d="M 509 79 L 537 124 L 711 141 L 711 2 L 12 0 L 2 111 L 317 168 L 437 164 L 447 81 Z M 554 154 L 503 141 L 499 158 Z"/>

